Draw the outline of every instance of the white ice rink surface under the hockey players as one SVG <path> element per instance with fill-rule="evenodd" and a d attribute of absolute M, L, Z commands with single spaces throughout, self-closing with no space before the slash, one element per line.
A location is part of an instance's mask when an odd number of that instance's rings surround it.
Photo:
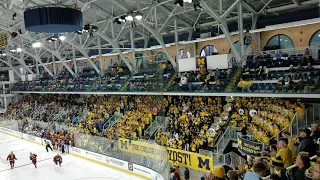
<path fill-rule="evenodd" d="M 15 168 L 6 161 L 13 151 L 17 157 Z M 30 152 L 38 155 L 36 169 L 29 159 Z M 61 155 L 62 167 L 53 164 L 57 151 L 45 150 L 44 146 L 0 133 L 0 180 L 142 180 L 109 167 L 72 155 Z"/>

